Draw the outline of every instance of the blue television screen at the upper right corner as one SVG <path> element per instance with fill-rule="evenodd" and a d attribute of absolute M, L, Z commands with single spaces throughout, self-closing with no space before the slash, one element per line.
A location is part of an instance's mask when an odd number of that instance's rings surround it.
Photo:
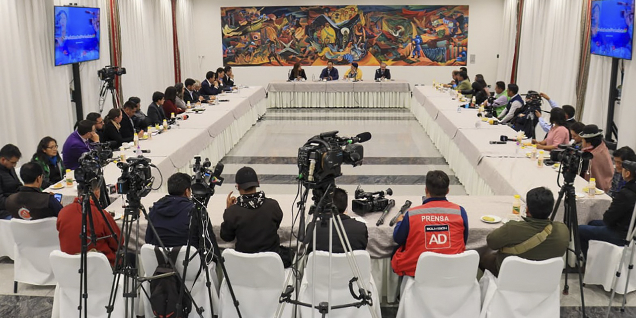
<path fill-rule="evenodd" d="M 591 53 L 631 60 L 634 0 L 594 0 L 591 4 Z"/>

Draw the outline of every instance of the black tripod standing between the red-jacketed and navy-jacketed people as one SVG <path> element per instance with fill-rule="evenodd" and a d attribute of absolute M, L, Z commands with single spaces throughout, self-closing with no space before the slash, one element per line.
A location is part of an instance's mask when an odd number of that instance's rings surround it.
<path fill-rule="evenodd" d="M 116 295 L 118 293 L 118 289 L 120 286 L 119 282 L 122 275 L 124 277 L 123 296 L 124 296 L 125 307 L 126 307 L 125 317 L 133 317 L 134 315 L 134 304 L 135 304 L 134 298 L 137 297 L 137 289 L 139 289 L 139 287 L 141 287 L 144 294 L 146 294 L 146 297 L 148 299 L 150 298 L 148 291 L 146 291 L 144 287 L 142 286 L 143 282 L 153 280 L 153 279 L 161 279 L 161 278 L 174 275 L 175 277 L 177 277 L 177 281 L 179 283 L 179 286 L 181 286 L 182 291 L 185 290 L 184 294 L 186 294 L 188 298 L 190 298 L 190 301 L 192 302 L 192 307 L 196 309 L 198 316 L 200 318 L 203 318 L 203 315 L 202 315 L 203 308 L 197 305 L 196 301 L 192 298 L 190 291 L 185 289 L 186 288 L 186 283 L 184 279 L 185 275 L 184 277 L 181 277 L 179 276 L 177 272 L 172 272 L 172 273 L 166 273 L 163 275 L 139 277 L 138 275 L 139 259 L 135 259 L 134 263 L 131 262 L 130 259 L 128 259 L 129 257 L 128 245 L 130 242 L 130 238 L 132 237 L 132 223 L 135 223 L 135 235 L 134 235 L 135 251 L 136 252 L 140 251 L 140 246 L 139 246 L 139 213 L 140 212 L 144 215 L 144 218 L 146 218 L 146 220 L 148 221 L 148 226 L 153 232 L 153 235 L 155 236 L 155 239 L 157 240 L 157 242 L 159 242 L 160 251 L 162 251 L 163 256 L 167 259 L 167 262 L 170 264 L 170 266 L 172 266 L 172 268 L 176 268 L 176 264 L 172 262 L 172 259 L 170 259 L 169 257 L 170 249 L 168 247 L 165 247 L 165 245 L 163 244 L 163 241 L 161 240 L 158 233 L 156 232 L 155 226 L 153 225 L 150 218 L 148 218 L 148 213 L 146 212 L 146 208 L 141 204 L 141 197 L 137 195 L 136 193 L 128 193 L 127 201 L 128 201 L 128 206 L 125 207 L 124 209 L 124 215 L 123 215 L 123 220 L 121 225 L 121 233 L 122 233 L 121 239 L 118 240 L 119 247 L 118 247 L 118 251 L 116 254 L 117 256 L 115 259 L 116 268 L 114 270 L 113 284 L 111 286 L 111 294 L 109 297 L 108 305 L 106 306 L 106 312 L 108 313 L 108 317 L 111 317 L 111 315 L 113 314 L 114 303 L 117 298 Z M 130 298 L 132 298 L 132 300 L 129 300 Z M 183 310 L 183 308 L 181 308 L 181 301 L 177 303 L 177 309 Z M 181 314 L 181 312 L 177 312 L 177 314 Z M 146 315 L 149 315 L 149 313 L 147 313 Z M 181 317 L 181 315 L 177 315 L 176 317 Z"/>

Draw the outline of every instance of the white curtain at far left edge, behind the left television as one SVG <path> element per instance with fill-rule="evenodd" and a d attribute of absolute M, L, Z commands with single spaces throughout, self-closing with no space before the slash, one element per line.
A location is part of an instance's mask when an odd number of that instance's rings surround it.
<path fill-rule="evenodd" d="M 60 146 L 74 124 L 71 66 L 53 66 L 53 1 L 0 1 L 0 143 L 13 143 L 28 162 L 39 140 L 50 135 Z M 1 145 L 0 145 L 1 146 Z"/>

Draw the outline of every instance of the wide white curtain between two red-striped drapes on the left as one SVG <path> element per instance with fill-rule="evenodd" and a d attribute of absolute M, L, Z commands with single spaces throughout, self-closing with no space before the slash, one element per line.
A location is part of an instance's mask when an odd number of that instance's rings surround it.
<path fill-rule="evenodd" d="M 121 76 L 121 100 L 137 96 L 142 103 L 149 104 L 153 92 L 164 92 L 167 86 L 174 85 L 171 3 L 170 0 L 120 0 L 118 8 L 120 66 L 127 70 L 127 74 Z"/>

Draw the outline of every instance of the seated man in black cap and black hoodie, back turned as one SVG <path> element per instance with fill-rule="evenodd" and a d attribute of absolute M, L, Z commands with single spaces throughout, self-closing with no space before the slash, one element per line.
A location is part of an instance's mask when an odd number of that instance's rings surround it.
<path fill-rule="evenodd" d="M 236 251 L 244 253 L 277 252 L 283 265 L 291 266 L 289 249 L 281 248 L 278 229 L 282 221 L 282 210 L 276 200 L 266 198 L 265 192 L 256 191 L 258 176 L 251 167 L 237 171 L 236 187 L 239 197 L 228 193 L 227 208 L 223 212 L 221 239 L 232 242 L 236 239 Z"/>

